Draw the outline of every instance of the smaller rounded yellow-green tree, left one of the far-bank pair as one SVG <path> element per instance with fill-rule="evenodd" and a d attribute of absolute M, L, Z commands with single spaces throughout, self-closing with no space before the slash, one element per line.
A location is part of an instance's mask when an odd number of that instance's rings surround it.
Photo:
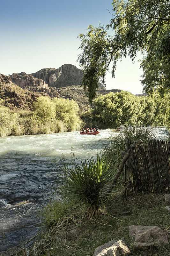
<path fill-rule="evenodd" d="M 55 119 L 55 104 L 48 97 L 39 97 L 36 102 L 33 103 L 34 113 L 45 121 L 53 121 Z"/>

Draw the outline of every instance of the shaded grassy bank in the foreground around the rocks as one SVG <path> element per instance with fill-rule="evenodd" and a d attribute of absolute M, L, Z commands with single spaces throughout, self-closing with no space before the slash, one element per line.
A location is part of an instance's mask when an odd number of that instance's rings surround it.
<path fill-rule="evenodd" d="M 65 204 L 59 207 L 59 204 L 57 202 L 55 207 L 53 202 L 48 211 L 46 208 L 46 217 L 54 216 L 53 210 L 56 208 L 58 217 L 53 222 L 46 218 L 49 229 L 42 237 L 44 240 L 40 241 L 41 250 L 38 255 L 41 252 L 43 256 L 92 256 L 99 245 L 124 237 L 133 256 L 169 256 L 169 245 L 152 247 L 144 252 L 135 251 L 128 232 L 130 225 L 159 226 L 170 232 L 170 215 L 164 209 L 162 194 L 129 195 L 124 198 L 119 193 L 114 194 L 105 213 L 95 219 L 97 222 L 83 216 L 83 212 L 78 209 L 68 209 Z M 44 247 L 42 241 L 45 239 Z"/>

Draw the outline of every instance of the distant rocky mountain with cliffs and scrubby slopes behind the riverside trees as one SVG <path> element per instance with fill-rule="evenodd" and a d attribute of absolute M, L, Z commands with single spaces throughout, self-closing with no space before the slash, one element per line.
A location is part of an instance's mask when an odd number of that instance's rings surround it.
<path fill-rule="evenodd" d="M 35 73 L 19 74 L 13 73 L 11 80 L 23 89 L 35 93 L 46 93 L 51 98 L 63 97 L 65 99 L 75 100 L 79 107 L 86 111 L 90 108 L 88 99 L 85 97 L 83 89 L 80 87 L 83 78 L 83 70 L 71 64 L 64 64 L 60 68 L 43 68 Z M 106 90 L 99 83 L 97 97 L 109 92 L 120 92 L 121 90 Z"/>

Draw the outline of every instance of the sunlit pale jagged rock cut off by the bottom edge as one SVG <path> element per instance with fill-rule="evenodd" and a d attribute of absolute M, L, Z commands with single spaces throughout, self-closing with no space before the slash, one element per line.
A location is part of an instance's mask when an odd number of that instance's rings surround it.
<path fill-rule="evenodd" d="M 94 250 L 93 256 L 126 256 L 130 255 L 130 250 L 125 244 L 124 238 L 111 240 L 106 244 L 100 245 Z"/>

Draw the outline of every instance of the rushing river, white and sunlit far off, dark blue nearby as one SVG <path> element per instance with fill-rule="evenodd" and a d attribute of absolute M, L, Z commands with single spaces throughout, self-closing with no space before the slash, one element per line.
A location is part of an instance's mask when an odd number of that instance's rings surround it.
<path fill-rule="evenodd" d="M 107 129 L 95 136 L 64 132 L 0 138 L 0 255 L 39 230 L 39 211 L 57 186 L 54 160 L 61 164 L 62 153 L 69 160 L 71 147 L 77 162 L 95 156 L 110 134 Z"/>

